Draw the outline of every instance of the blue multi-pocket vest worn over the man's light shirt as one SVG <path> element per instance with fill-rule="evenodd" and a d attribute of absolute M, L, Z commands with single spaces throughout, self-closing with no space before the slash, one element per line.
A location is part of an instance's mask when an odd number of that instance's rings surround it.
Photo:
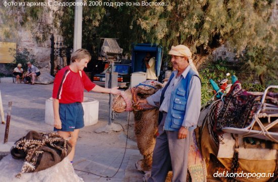
<path fill-rule="evenodd" d="M 170 105 L 165 119 L 164 130 L 178 131 L 183 123 L 184 115 L 186 115 L 187 100 L 189 95 L 190 81 L 193 76 L 199 76 L 192 70 L 189 70 L 186 78 L 182 77 L 182 80 L 178 83 L 175 90 L 171 91 Z M 172 73 L 167 85 L 161 92 L 160 104 L 163 102 L 164 94 L 169 86 L 174 74 Z M 200 79 L 200 78 L 199 78 Z M 163 113 L 159 112 L 158 124 L 161 123 Z M 192 131 L 197 126 L 189 127 L 189 131 Z"/>

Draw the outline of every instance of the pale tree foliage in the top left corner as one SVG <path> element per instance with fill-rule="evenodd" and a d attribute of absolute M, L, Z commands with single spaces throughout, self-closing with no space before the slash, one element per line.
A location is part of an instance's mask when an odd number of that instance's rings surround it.
<path fill-rule="evenodd" d="M 19 3 L 41 2 L 40 0 L 19 0 L 18 6 L 4 7 L 4 0 L 0 0 L 0 38 L 4 41 L 17 41 L 18 33 L 24 27 L 29 30 L 37 42 L 49 39 L 53 28 L 49 22 L 51 8 L 48 6 L 19 6 Z M 9 1 L 8 1 L 9 2 Z"/>

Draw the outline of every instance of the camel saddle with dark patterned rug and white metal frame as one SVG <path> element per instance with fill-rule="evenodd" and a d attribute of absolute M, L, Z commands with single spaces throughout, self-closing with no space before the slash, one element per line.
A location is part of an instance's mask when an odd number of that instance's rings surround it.
<path fill-rule="evenodd" d="M 270 140 L 278 143 L 278 93 L 246 92 L 240 83 L 234 85 L 221 104 L 217 130 Z"/>

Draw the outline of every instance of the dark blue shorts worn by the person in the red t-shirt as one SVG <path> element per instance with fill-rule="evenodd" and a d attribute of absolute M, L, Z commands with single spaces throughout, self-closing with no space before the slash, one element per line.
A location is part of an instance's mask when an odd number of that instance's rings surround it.
<path fill-rule="evenodd" d="M 59 103 L 59 115 L 62 129 L 59 130 L 54 127 L 54 131 L 73 132 L 75 129 L 84 127 L 84 110 L 80 102 Z"/>

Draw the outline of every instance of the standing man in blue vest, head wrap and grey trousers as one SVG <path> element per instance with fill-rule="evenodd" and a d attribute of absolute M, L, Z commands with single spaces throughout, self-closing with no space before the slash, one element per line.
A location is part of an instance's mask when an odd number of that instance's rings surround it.
<path fill-rule="evenodd" d="M 201 81 L 185 45 L 169 51 L 175 71 L 167 85 L 147 99 L 136 103 L 160 103 L 158 137 L 153 153 L 152 172 L 148 181 L 165 181 L 172 168 L 172 181 L 186 181 L 188 154 L 193 131 L 201 109 Z M 147 181 L 147 176 L 144 176 Z"/>

